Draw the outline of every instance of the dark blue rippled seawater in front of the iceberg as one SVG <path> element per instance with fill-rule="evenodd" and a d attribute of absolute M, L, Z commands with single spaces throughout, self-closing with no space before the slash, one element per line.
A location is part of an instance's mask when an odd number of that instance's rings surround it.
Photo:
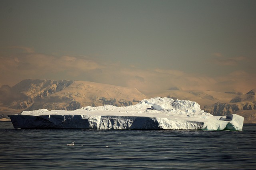
<path fill-rule="evenodd" d="M 75 146 L 67 146 L 72 141 Z M 25 130 L 0 122 L 0 169 L 256 169 L 256 125 L 241 131 Z"/>

